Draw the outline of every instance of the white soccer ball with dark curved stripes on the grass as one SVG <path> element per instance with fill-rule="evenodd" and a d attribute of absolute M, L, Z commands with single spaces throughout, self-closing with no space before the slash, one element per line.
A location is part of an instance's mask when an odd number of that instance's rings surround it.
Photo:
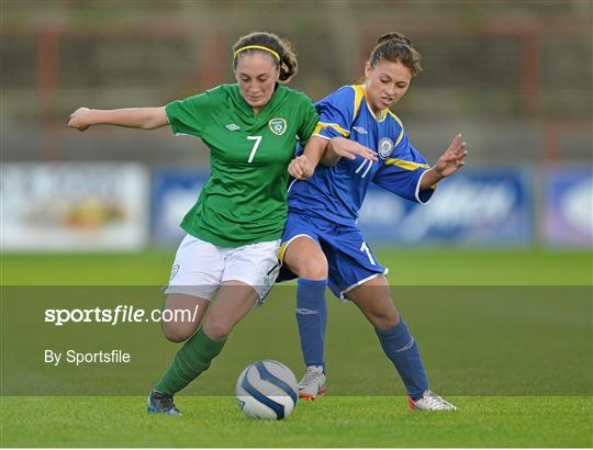
<path fill-rule="evenodd" d="M 296 406 L 298 383 L 284 364 L 266 359 L 248 365 L 237 380 L 240 410 L 258 419 L 283 419 Z"/>

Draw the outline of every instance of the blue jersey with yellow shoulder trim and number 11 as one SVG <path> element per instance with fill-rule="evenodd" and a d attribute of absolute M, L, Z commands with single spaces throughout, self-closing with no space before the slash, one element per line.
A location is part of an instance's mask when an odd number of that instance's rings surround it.
<path fill-rule="evenodd" d="M 315 104 L 320 122 L 313 135 L 325 139 L 348 137 L 378 153 L 379 160 L 340 158 L 334 167 L 317 166 L 306 180 L 289 188 L 289 209 L 314 213 L 335 223 L 356 223 L 371 182 L 405 199 L 426 203 L 434 189 L 419 191 L 428 169 L 412 146 L 400 119 L 389 110 L 371 112 L 365 86 L 344 86 Z M 302 151 L 302 149 L 301 149 Z"/>

